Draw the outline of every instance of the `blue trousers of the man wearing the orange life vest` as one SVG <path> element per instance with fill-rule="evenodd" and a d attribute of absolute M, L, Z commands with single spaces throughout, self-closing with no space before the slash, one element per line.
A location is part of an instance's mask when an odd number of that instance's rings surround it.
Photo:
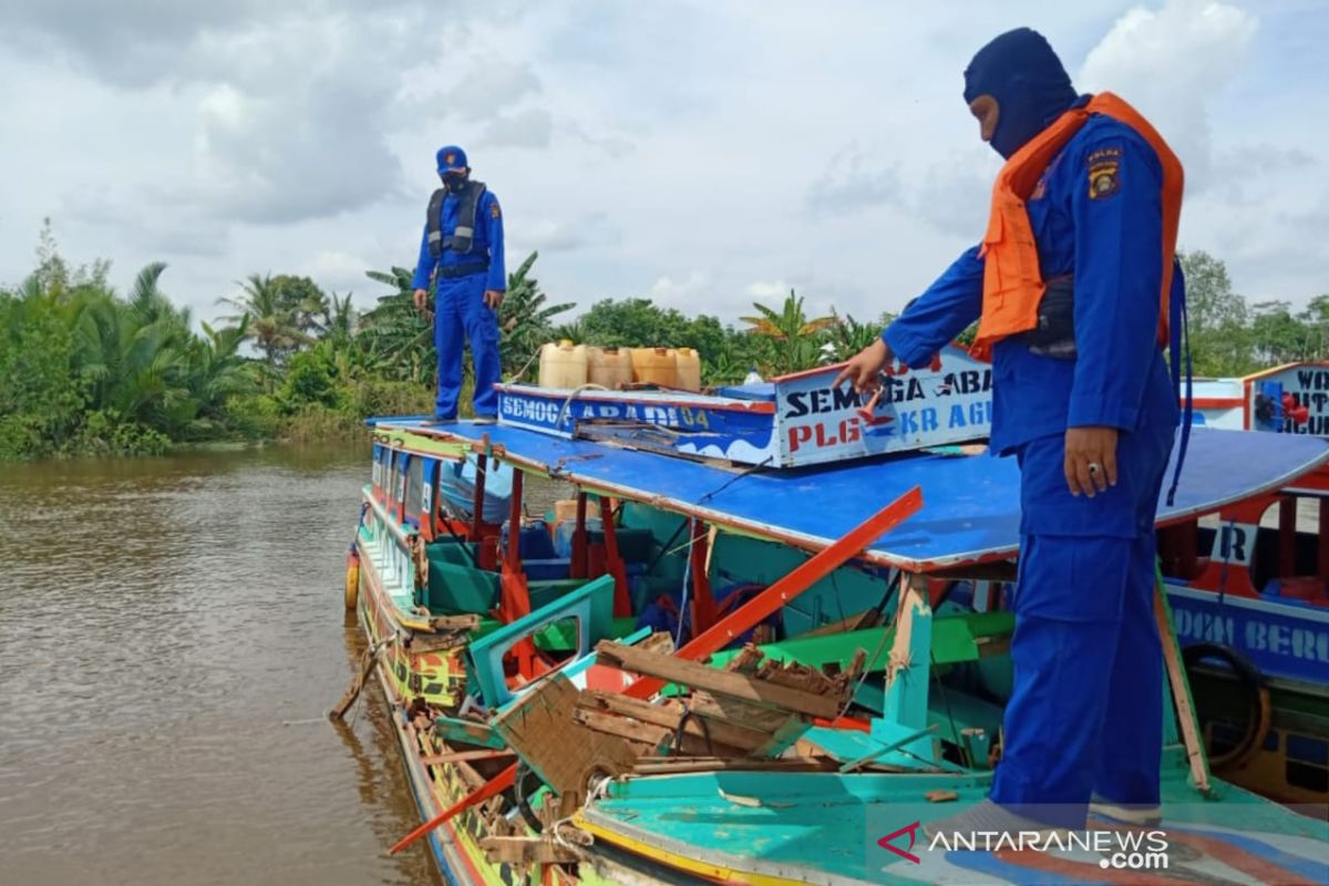
<path fill-rule="evenodd" d="M 1118 485 L 1094 498 L 1067 490 L 1062 434 L 1019 450 L 1015 680 L 991 800 L 1031 818 L 1079 829 L 1091 793 L 1159 800 L 1154 514 L 1172 436 L 1122 434 Z"/>

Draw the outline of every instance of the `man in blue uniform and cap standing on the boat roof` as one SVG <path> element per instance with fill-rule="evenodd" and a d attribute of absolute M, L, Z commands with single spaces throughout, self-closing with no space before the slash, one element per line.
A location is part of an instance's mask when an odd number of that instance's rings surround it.
<path fill-rule="evenodd" d="M 502 211 L 484 182 L 470 178 L 466 153 L 456 145 L 439 149 L 443 187 L 429 198 L 420 260 L 416 263 L 415 306 L 423 311 L 431 279 L 435 290 L 433 344 L 439 351 L 439 399 L 433 420 L 457 420 L 461 392 L 461 352 L 470 341 L 476 371 L 472 404 L 477 424 L 498 414 L 498 306 L 508 290 L 502 259 Z"/>

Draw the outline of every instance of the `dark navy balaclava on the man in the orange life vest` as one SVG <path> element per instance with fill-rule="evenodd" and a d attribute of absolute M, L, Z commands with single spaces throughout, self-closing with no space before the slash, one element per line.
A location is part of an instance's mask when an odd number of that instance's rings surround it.
<path fill-rule="evenodd" d="M 1010 158 L 1075 102 L 1075 89 L 1043 35 L 1017 28 L 978 50 L 965 69 L 965 101 L 991 96 L 999 108 L 991 146 Z"/>

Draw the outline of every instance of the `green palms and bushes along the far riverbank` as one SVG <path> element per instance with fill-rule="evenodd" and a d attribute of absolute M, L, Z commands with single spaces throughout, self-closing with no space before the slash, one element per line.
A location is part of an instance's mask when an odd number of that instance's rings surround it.
<path fill-rule="evenodd" d="M 306 276 L 251 274 L 218 300 L 217 320 L 195 323 L 166 295 L 162 263 L 117 292 L 108 262 L 72 266 L 49 228 L 36 259 L 21 284 L 0 288 L 0 461 L 355 437 L 367 416 L 432 409 L 432 325 L 412 304 L 408 268 L 368 271 L 364 311 Z M 540 288 L 536 259 L 509 275 L 500 310 L 505 379 L 533 381 L 540 345 L 571 339 L 695 348 L 707 384 L 734 384 L 750 371 L 768 377 L 847 359 L 890 319 L 808 316 L 792 291 L 777 307 L 754 304 L 739 325 L 645 298 L 605 299 L 570 317 L 571 303 Z M 1329 295 L 1301 311 L 1248 304 L 1220 260 L 1191 252 L 1183 263 L 1196 375 L 1329 355 Z M 468 385 L 469 375 L 468 365 Z"/>

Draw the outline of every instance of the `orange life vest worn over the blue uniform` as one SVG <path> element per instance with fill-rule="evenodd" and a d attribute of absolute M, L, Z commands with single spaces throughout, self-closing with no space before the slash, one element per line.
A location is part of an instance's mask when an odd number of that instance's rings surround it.
<path fill-rule="evenodd" d="M 1176 227 L 1181 217 L 1181 161 L 1147 120 L 1112 93 L 1099 93 L 1083 108 L 1058 117 L 1006 161 L 993 185 L 993 206 L 979 255 L 983 258 L 983 313 L 974 339 L 975 355 L 989 357 L 991 345 L 1006 336 L 1029 332 L 1038 325 L 1038 303 L 1043 298 L 1043 276 L 1038 268 L 1038 244 L 1025 202 L 1058 151 L 1088 122 L 1090 114 L 1104 114 L 1134 129 L 1158 154 L 1163 166 L 1163 283 L 1159 292 L 1159 343 L 1167 344 L 1168 292 L 1172 287 L 1172 258 Z"/>

